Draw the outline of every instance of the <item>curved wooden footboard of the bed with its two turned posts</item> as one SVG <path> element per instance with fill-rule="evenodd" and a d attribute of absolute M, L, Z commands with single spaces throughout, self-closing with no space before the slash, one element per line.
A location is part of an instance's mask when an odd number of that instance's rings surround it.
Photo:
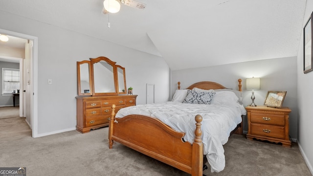
<path fill-rule="evenodd" d="M 203 144 L 201 115 L 195 117 L 195 141 L 191 145 L 182 140 L 184 133 L 176 132 L 156 118 L 128 115 L 115 121 L 115 105 L 109 124 L 109 148 L 117 141 L 192 176 L 202 176 Z"/>

